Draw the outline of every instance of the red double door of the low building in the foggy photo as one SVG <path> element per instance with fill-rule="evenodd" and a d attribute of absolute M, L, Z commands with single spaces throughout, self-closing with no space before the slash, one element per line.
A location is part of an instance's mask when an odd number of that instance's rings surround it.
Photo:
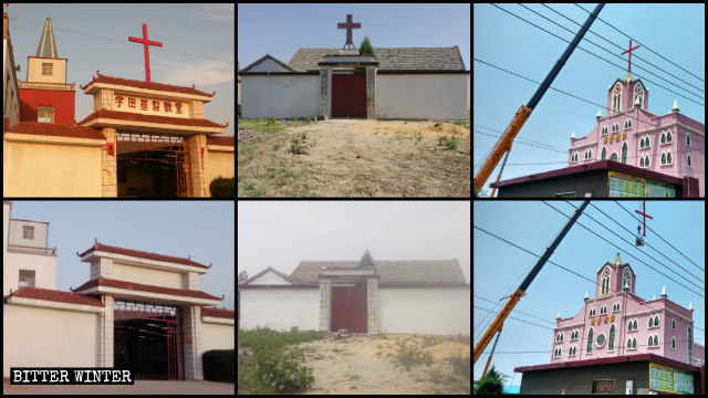
<path fill-rule="evenodd" d="M 366 333 L 366 286 L 332 287 L 332 332 Z"/>

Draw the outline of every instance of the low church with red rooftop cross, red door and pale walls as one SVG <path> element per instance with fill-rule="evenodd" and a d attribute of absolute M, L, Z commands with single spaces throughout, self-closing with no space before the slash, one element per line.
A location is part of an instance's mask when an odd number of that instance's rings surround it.
<path fill-rule="evenodd" d="M 352 29 L 344 46 L 353 48 Z M 465 119 L 469 75 L 459 48 L 298 49 L 290 62 L 269 54 L 241 76 L 243 118 L 342 117 Z"/>

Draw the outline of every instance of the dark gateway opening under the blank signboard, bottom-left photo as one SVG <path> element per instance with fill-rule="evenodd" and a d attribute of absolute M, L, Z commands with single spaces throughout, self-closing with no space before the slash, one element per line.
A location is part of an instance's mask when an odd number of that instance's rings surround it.
<path fill-rule="evenodd" d="M 177 308 L 116 301 L 114 366 L 132 368 L 136 379 L 183 379 Z"/>

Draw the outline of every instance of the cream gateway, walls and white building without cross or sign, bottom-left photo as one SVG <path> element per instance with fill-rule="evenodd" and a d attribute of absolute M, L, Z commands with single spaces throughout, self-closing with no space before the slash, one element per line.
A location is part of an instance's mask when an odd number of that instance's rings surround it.
<path fill-rule="evenodd" d="M 3 377 L 11 367 L 131 367 L 135 378 L 201 380 L 202 354 L 233 349 L 233 311 L 200 291 L 210 265 L 94 242 L 88 280 L 56 290 L 49 224 L 3 202 Z"/>

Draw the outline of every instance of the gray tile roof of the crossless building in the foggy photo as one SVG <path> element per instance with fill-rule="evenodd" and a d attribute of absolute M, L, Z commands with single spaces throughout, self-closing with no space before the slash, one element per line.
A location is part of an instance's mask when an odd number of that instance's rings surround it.
<path fill-rule="evenodd" d="M 355 269 L 358 261 L 301 261 L 291 276 L 302 284 L 319 284 L 327 269 Z M 381 284 L 466 283 L 457 260 L 374 261 Z"/>

